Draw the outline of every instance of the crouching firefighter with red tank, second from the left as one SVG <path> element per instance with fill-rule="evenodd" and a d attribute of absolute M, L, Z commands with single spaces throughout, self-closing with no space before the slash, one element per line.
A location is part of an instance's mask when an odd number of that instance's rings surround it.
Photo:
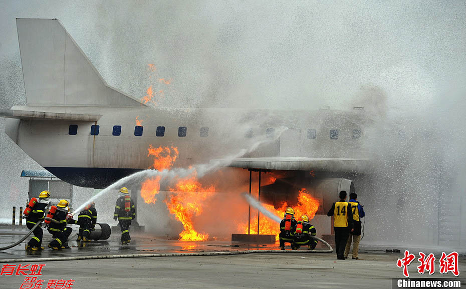
<path fill-rule="evenodd" d="M 67 240 L 73 229 L 67 227 L 67 220 L 71 215 L 68 216 L 68 201 L 66 199 L 60 200 L 57 206 L 53 205 L 47 217 L 52 218 L 52 221 L 45 220 L 49 226 L 49 233 L 52 234 L 52 241 L 49 243 L 49 248 L 54 250 L 64 249 L 68 246 Z M 55 221 L 54 221 L 55 220 Z"/>

